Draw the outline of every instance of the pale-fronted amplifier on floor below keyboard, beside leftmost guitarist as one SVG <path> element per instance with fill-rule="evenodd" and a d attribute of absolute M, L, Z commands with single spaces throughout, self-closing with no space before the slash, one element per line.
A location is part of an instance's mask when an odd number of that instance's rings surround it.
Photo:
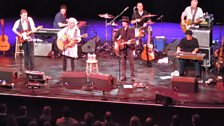
<path fill-rule="evenodd" d="M 52 43 L 34 43 L 34 56 L 51 56 Z"/>

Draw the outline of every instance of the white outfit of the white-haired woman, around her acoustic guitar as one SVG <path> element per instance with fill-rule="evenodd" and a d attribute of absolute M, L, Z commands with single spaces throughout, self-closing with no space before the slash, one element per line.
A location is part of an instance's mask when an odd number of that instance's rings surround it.
<path fill-rule="evenodd" d="M 58 32 L 58 39 L 60 39 L 63 35 L 66 35 L 70 39 L 77 39 L 78 42 L 81 41 L 80 30 L 78 27 L 74 27 L 72 29 L 69 29 L 68 27 L 63 28 Z M 68 57 L 78 58 L 78 45 L 75 44 L 73 47 L 67 48 L 62 52 L 62 54 Z"/>

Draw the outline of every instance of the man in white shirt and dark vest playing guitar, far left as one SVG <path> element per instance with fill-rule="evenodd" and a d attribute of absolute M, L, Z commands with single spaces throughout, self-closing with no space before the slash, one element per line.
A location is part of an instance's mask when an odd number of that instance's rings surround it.
<path fill-rule="evenodd" d="M 36 30 L 33 19 L 28 17 L 27 10 L 21 9 L 20 19 L 15 22 L 12 31 L 17 35 L 18 40 L 23 40 L 22 47 L 24 51 L 24 66 L 26 70 L 34 69 L 34 43 L 31 35 Z"/>

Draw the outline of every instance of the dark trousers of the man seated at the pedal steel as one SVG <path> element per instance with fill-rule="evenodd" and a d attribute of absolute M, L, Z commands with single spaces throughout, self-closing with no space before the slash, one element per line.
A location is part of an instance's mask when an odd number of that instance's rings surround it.
<path fill-rule="evenodd" d="M 190 60 L 179 59 L 179 73 L 180 76 L 184 76 L 184 71 L 186 69 L 186 64 L 189 64 Z M 193 60 L 194 62 L 194 69 L 195 69 L 195 76 L 200 76 L 200 63 L 198 60 Z"/>

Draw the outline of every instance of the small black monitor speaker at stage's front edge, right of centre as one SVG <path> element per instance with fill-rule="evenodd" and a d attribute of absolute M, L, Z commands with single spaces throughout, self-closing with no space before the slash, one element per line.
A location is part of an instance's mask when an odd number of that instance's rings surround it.
<path fill-rule="evenodd" d="M 171 97 L 156 94 L 155 103 L 162 104 L 163 106 L 168 106 L 168 105 L 171 105 L 172 102 L 173 102 L 173 99 Z"/>

